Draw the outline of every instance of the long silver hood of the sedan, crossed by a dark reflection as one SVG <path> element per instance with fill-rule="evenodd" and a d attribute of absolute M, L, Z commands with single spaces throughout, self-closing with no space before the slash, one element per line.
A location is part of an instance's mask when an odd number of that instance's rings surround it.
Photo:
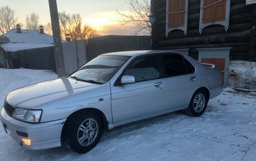
<path fill-rule="evenodd" d="M 13 107 L 31 109 L 54 100 L 65 99 L 68 96 L 97 88 L 97 86 L 99 85 L 62 77 L 13 90 L 7 95 L 6 100 Z"/>

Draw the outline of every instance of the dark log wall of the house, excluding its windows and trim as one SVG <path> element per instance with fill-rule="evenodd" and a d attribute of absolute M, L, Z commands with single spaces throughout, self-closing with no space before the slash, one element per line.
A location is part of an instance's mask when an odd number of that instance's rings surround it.
<path fill-rule="evenodd" d="M 256 61 L 256 7 L 245 0 L 231 0 L 229 28 L 210 25 L 199 33 L 200 1 L 189 0 L 188 30 L 172 30 L 166 37 L 166 1 L 152 0 L 152 13 L 156 23 L 152 25 L 153 49 L 188 48 L 189 55 L 198 59 L 196 48 L 231 47 L 230 60 Z M 203 1 L 203 0 L 202 0 Z"/>

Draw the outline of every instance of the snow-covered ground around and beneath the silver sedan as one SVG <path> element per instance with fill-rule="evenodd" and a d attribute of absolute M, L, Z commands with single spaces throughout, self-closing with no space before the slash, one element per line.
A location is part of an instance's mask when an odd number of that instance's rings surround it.
<path fill-rule="evenodd" d="M 9 91 L 55 77 L 43 70 L 0 68 L 0 105 Z M 229 91 L 210 100 L 202 117 L 173 112 L 117 127 L 86 154 L 26 150 L 0 127 L 0 160 L 255 160 L 256 96 Z"/>

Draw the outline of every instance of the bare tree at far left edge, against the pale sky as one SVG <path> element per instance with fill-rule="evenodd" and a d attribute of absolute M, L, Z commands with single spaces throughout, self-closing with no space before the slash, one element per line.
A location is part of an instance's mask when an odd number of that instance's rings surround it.
<path fill-rule="evenodd" d="M 0 8 L 0 32 L 2 34 L 10 31 L 17 22 L 18 18 L 15 17 L 13 10 L 4 6 Z"/>

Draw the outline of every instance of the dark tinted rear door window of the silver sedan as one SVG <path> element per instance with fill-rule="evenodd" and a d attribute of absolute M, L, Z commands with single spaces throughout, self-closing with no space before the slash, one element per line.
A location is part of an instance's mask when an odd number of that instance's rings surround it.
<path fill-rule="evenodd" d="M 166 77 L 185 75 L 187 73 L 182 56 L 177 54 L 162 56 Z"/>

